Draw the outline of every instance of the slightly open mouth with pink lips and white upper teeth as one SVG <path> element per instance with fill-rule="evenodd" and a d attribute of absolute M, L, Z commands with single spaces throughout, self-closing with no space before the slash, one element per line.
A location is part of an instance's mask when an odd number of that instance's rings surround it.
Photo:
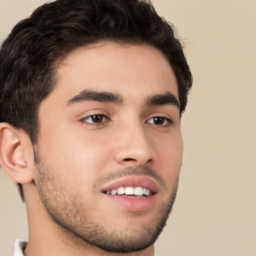
<path fill-rule="evenodd" d="M 126 176 L 101 189 L 106 199 L 130 211 L 151 208 L 156 201 L 157 191 L 157 183 L 143 175 Z"/>

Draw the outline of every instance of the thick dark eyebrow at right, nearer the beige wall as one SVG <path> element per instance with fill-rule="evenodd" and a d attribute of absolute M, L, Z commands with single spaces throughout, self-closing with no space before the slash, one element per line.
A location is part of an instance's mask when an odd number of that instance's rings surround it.
<path fill-rule="evenodd" d="M 179 102 L 177 98 L 170 93 L 169 91 L 162 93 L 162 94 L 155 94 L 152 96 L 149 96 L 145 100 L 146 106 L 154 106 L 154 105 L 174 105 L 178 109 L 180 108 Z"/>

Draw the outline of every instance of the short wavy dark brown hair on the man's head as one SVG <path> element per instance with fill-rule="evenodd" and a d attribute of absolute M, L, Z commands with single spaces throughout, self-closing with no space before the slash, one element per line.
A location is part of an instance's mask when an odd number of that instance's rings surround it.
<path fill-rule="evenodd" d="M 174 31 L 146 0 L 43 4 L 18 22 L 0 47 L 0 122 L 23 129 L 36 144 L 38 107 L 54 89 L 57 63 L 74 48 L 101 40 L 146 43 L 161 50 L 177 79 L 181 114 L 192 76 Z"/>

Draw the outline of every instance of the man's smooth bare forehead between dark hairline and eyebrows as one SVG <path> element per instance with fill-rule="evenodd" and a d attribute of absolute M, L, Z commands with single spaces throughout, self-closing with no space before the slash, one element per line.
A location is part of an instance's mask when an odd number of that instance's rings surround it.
<path fill-rule="evenodd" d="M 164 54 L 147 44 L 100 42 L 76 48 L 59 65 L 55 103 L 83 89 L 103 90 L 124 99 L 170 91 L 178 99 L 173 70 Z M 63 104 L 61 102 L 60 104 Z"/>

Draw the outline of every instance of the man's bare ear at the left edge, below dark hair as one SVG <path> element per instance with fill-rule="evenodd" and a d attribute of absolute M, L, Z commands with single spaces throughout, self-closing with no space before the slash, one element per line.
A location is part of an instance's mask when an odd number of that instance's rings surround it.
<path fill-rule="evenodd" d="M 9 123 L 0 123 L 0 165 L 17 183 L 33 181 L 33 148 L 28 135 Z"/>

